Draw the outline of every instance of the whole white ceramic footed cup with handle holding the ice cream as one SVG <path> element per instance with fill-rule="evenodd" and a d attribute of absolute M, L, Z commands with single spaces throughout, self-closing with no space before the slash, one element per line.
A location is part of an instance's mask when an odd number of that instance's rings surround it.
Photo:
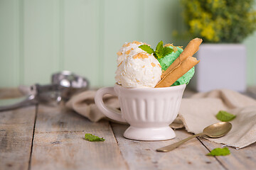
<path fill-rule="evenodd" d="M 178 115 L 185 88 L 186 84 L 164 88 L 124 88 L 115 84 L 114 87 L 99 89 L 95 103 L 108 118 L 129 123 L 124 137 L 132 140 L 169 140 L 176 137 L 169 125 Z M 102 101 L 105 94 L 118 97 L 121 112 L 105 106 Z"/>

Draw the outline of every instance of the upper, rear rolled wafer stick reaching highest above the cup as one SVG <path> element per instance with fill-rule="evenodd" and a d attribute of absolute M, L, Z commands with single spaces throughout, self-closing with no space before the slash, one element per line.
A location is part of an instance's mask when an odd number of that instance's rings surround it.
<path fill-rule="evenodd" d="M 171 72 L 171 70 L 177 68 L 181 62 L 186 60 L 188 56 L 193 56 L 199 50 L 199 45 L 201 45 L 202 42 L 203 40 L 201 38 L 194 38 L 191 40 L 183 52 L 181 52 L 181 55 L 179 55 L 178 58 L 176 58 L 176 60 L 174 60 L 174 62 L 168 67 L 168 69 L 161 74 L 161 79 L 163 79 L 166 74 Z"/>

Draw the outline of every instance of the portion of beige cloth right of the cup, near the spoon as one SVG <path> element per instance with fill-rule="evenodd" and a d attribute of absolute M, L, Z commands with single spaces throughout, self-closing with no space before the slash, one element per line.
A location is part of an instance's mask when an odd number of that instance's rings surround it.
<path fill-rule="evenodd" d="M 220 110 L 236 115 L 230 122 L 233 128 L 224 137 L 208 140 L 237 149 L 256 142 L 256 101 L 235 91 L 214 90 L 183 98 L 178 119 L 188 132 L 199 133 L 219 122 L 215 115 Z"/>

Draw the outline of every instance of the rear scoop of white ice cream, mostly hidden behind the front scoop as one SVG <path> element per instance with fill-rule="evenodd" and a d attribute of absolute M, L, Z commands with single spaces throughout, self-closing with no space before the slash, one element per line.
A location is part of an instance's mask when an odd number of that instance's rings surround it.
<path fill-rule="evenodd" d="M 143 42 L 138 42 L 138 41 L 134 41 L 134 42 L 126 42 L 121 49 L 119 50 L 119 52 L 117 52 L 117 66 L 119 66 L 119 64 L 125 60 L 127 57 L 132 56 L 132 55 L 136 55 L 139 52 L 144 52 L 144 50 L 140 49 L 139 46 L 140 45 L 144 45 L 145 43 Z"/>

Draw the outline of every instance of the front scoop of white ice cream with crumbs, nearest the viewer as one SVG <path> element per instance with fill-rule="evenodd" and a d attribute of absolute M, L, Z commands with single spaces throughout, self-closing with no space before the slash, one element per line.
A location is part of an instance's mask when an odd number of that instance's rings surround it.
<path fill-rule="evenodd" d="M 119 64 L 115 80 L 124 87 L 154 87 L 161 80 L 161 65 L 153 55 L 139 52 Z"/>

